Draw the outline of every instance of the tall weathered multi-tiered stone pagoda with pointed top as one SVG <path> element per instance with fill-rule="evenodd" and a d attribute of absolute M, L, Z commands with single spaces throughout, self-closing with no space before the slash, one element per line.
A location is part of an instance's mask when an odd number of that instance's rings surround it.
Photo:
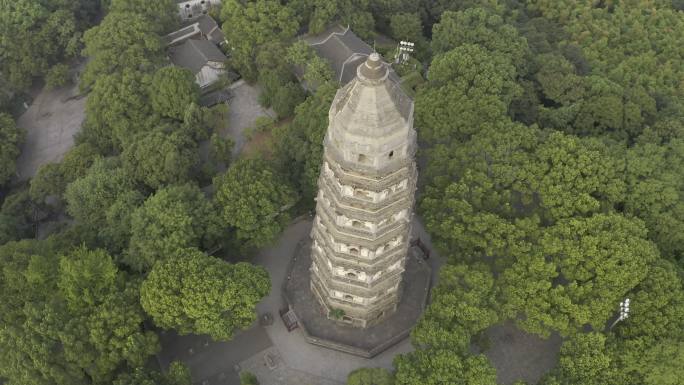
<path fill-rule="evenodd" d="M 311 291 L 328 318 L 365 328 L 400 301 L 417 177 L 413 101 L 377 53 L 337 91 L 324 148 Z"/>

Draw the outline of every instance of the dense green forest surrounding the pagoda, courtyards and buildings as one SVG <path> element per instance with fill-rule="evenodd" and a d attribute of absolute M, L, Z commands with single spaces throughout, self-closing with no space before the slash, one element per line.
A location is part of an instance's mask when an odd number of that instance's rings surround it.
<path fill-rule="evenodd" d="M 268 149 L 236 160 L 225 108 L 167 65 L 174 0 L 0 4 L 7 384 L 189 384 L 150 365 L 158 330 L 227 340 L 256 320 L 270 280 L 249 256 L 312 209 L 339 86 L 295 38 L 332 23 L 416 43 L 417 210 L 447 261 L 415 351 L 348 383 L 494 385 L 473 346 L 506 320 L 563 337 L 542 385 L 681 383 L 684 2 L 224 0 L 230 65 L 278 116 Z M 76 145 L 16 183 L 18 100 L 79 56 Z"/>

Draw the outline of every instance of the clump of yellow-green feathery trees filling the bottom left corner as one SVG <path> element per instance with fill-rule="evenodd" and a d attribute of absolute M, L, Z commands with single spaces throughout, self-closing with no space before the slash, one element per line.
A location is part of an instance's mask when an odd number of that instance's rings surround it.
<path fill-rule="evenodd" d="M 0 250 L 0 373 L 16 383 L 107 384 L 159 349 L 142 329 L 139 282 L 103 251 L 58 257 L 50 241 Z"/>

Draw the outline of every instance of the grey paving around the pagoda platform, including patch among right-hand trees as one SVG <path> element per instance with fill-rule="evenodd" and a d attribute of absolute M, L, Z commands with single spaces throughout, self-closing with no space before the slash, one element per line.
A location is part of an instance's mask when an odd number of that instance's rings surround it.
<path fill-rule="evenodd" d="M 361 367 L 392 369 L 397 354 L 412 351 L 406 338 L 366 359 L 311 345 L 300 329 L 287 331 L 278 317 L 278 310 L 285 305 L 283 281 L 297 244 L 306 239 L 310 231 L 311 220 L 300 219 L 285 229 L 276 243 L 262 249 L 253 259 L 271 276 L 271 293 L 257 305 L 257 312 L 259 315 L 272 314 L 272 325 L 255 325 L 232 341 L 218 343 L 203 336 L 177 337 L 167 332 L 162 337 L 162 365 L 166 366 L 173 359 L 188 363 L 197 385 L 239 385 L 238 372 L 241 370 L 255 373 L 262 385 L 343 385 L 352 370 Z M 412 237 L 416 236 L 432 249 L 430 238 L 417 217 L 413 221 Z M 433 251 L 428 263 L 434 285 L 443 260 Z M 492 327 L 488 335 L 491 346 L 486 355 L 496 367 L 498 382 L 502 385 L 510 385 L 517 379 L 535 383 L 557 361 L 558 336 L 543 340 L 520 331 L 510 322 Z"/>

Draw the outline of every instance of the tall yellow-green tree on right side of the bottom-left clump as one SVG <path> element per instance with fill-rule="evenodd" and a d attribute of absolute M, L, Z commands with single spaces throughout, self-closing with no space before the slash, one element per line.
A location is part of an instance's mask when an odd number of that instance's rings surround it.
<path fill-rule="evenodd" d="M 82 247 L 60 260 L 57 286 L 70 313 L 65 356 L 95 383 L 111 381 L 122 363 L 142 366 L 159 350 L 157 336 L 142 330 L 139 285 L 103 251 Z"/>

